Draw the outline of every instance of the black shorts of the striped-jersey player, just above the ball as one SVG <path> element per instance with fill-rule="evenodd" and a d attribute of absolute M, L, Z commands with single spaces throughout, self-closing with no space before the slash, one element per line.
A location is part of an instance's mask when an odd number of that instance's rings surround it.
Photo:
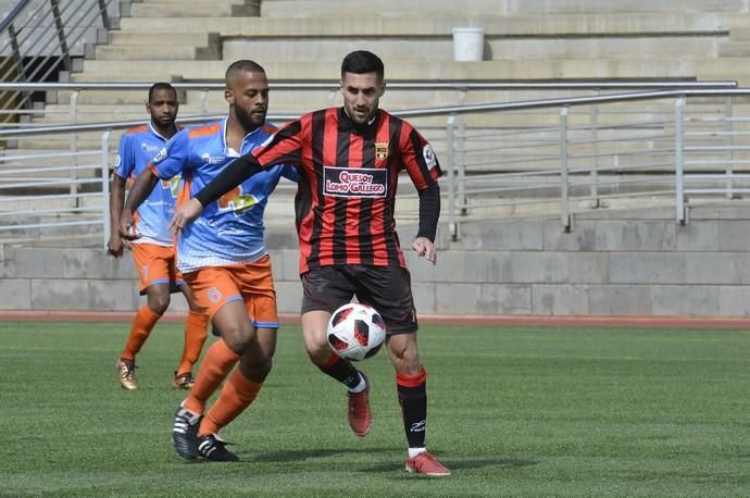
<path fill-rule="evenodd" d="M 321 266 L 302 275 L 302 313 L 327 311 L 357 300 L 377 310 L 386 333 L 409 334 L 418 328 L 411 275 L 401 266 L 340 264 Z"/>

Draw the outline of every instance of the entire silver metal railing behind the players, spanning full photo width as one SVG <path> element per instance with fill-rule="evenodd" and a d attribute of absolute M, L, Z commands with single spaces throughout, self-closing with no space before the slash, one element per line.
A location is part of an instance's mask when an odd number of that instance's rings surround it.
<path fill-rule="evenodd" d="M 580 210 L 661 202 L 674 206 L 676 221 L 686 223 L 688 202 L 750 191 L 748 97 L 750 89 L 674 89 L 396 114 L 446 117 L 443 207 L 451 235 L 459 238 L 461 223 L 502 210 L 552 213 L 571 229 Z M 284 122 L 296 114 L 268 117 Z M 21 161 L 21 151 L 0 158 L 0 237 L 74 224 L 93 225 L 96 236 L 107 236 L 110 130 L 137 124 L 141 121 L 0 129 L 0 140 L 103 134 L 99 149 L 71 149 L 53 161 L 45 154 Z M 401 198 L 415 217 L 415 194 Z M 17 221 L 29 215 L 40 220 Z"/>

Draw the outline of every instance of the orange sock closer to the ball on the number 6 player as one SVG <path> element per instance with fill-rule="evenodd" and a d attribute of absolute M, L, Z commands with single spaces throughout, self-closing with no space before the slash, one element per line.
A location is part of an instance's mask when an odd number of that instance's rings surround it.
<path fill-rule="evenodd" d="M 250 381 L 236 369 L 229 382 L 224 384 L 218 399 L 201 421 L 198 434 L 217 434 L 253 402 L 262 386 L 262 383 Z"/>

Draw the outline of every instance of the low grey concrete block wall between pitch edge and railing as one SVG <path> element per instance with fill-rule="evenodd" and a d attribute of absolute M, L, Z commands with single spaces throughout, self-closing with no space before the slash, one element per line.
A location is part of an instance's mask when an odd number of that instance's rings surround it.
<path fill-rule="evenodd" d="M 402 240 L 414 227 L 403 225 Z M 301 286 L 291 228 L 272 228 L 279 311 Z M 438 238 L 438 264 L 408 253 L 421 314 L 750 315 L 750 203 L 690 211 L 589 212 L 564 233 L 557 219 L 476 221 Z M 102 249 L 3 247 L 0 309 L 128 311 L 139 304 L 129 259 Z M 173 310 L 184 310 L 182 297 Z"/>

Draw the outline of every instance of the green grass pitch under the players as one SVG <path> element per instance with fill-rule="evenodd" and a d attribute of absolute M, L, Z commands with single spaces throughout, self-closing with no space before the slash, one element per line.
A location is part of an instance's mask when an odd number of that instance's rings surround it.
<path fill-rule="evenodd" d="M 182 326 L 157 325 L 137 391 L 114 372 L 127 329 L 0 323 L 0 496 L 750 496 L 748 331 L 424 325 L 427 443 L 453 470 L 430 480 L 403 471 L 387 356 L 361 363 L 374 422 L 358 438 L 296 326 L 223 432 L 241 462 L 185 462 L 171 440 Z"/>

